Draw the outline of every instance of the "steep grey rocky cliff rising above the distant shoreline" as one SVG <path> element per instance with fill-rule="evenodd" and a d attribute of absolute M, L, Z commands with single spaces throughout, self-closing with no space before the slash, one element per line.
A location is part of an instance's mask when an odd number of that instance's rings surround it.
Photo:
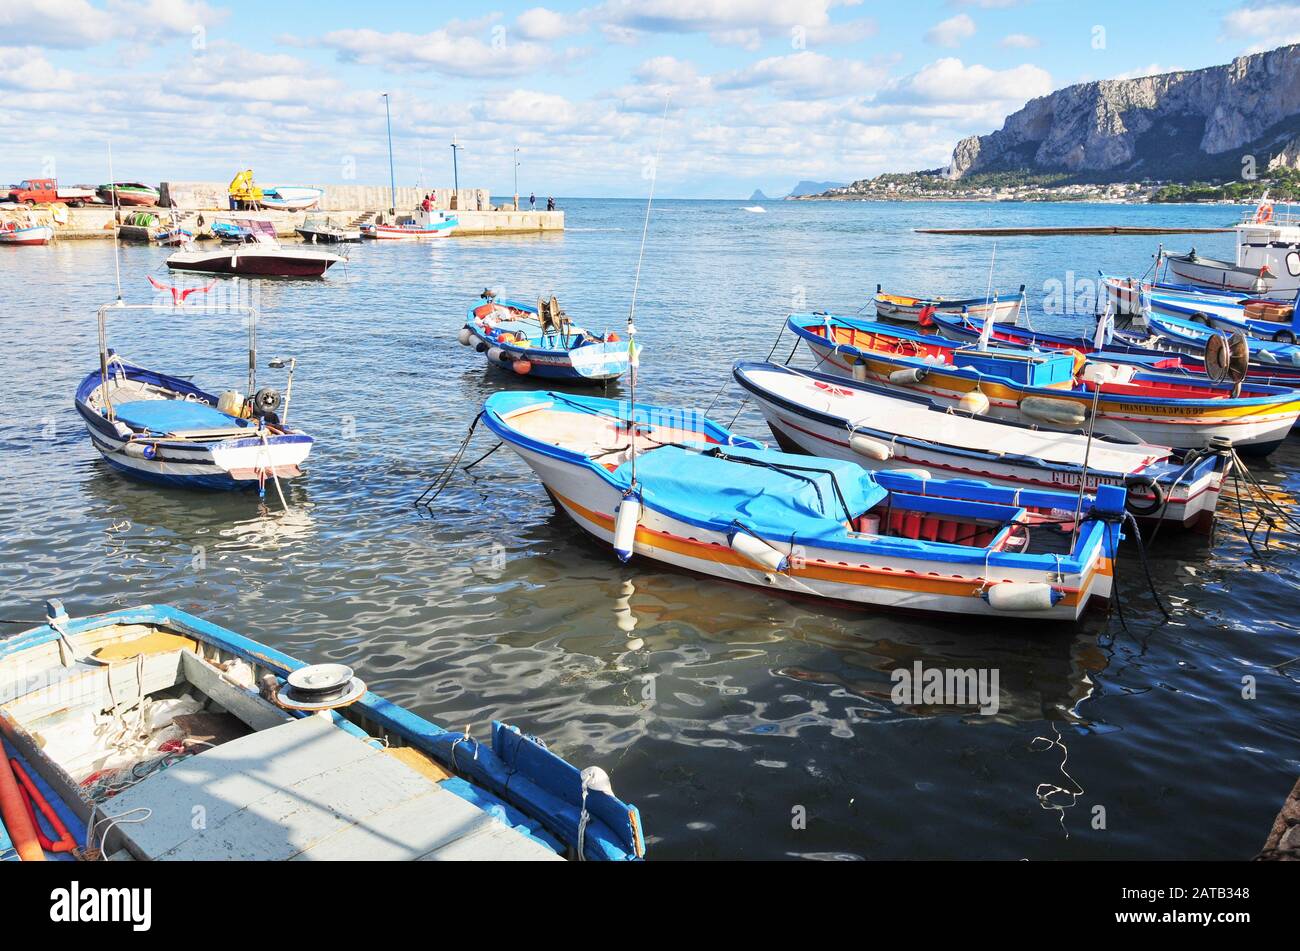
<path fill-rule="evenodd" d="M 1226 66 L 1057 90 L 1009 116 L 1000 131 L 959 142 L 948 177 L 1236 178 L 1245 155 L 1260 171 L 1280 153 L 1294 161 L 1297 134 L 1300 45 L 1290 45 Z"/>

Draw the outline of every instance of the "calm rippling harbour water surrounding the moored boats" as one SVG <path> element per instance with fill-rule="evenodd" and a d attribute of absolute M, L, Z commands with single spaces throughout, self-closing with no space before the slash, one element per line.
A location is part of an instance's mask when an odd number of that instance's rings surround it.
<path fill-rule="evenodd" d="M 562 204 L 563 235 L 365 244 L 325 281 L 256 286 L 261 362 L 298 357 L 291 416 L 317 440 L 289 514 L 277 503 L 260 512 L 254 495 L 110 473 L 72 400 L 96 365 L 95 307 L 114 296 L 112 246 L 0 248 L 0 616 L 39 617 L 51 595 L 74 615 L 173 603 L 300 657 L 350 664 L 437 722 L 484 737 L 490 720 L 508 720 L 578 765 L 604 767 L 641 807 L 660 859 L 1257 851 L 1300 772 L 1300 664 L 1277 666 L 1300 655 L 1297 559 L 1253 559 L 1232 524 L 1213 544 L 1158 540 L 1152 572 L 1170 622 L 1130 553 L 1124 631 L 1105 618 L 1005 630 L 828 611 L 641 560 L 623 566 L 555 514 L 507 450 L 417 516 L 412 501 L 482 400 L 530 386 L 456 343 L 485 286 L 554 292 L 584 325 L 621 329 L 644 207 Z M 729 366 L 766 356 L 792 308 L 853 313 L 878 282 L 982 294 L 993 257 L 994 286 L 1026 283 L 1037 312 L 1061 286 L 1087 298 L 1079 282 L 1098 269 L 1140 274 L 1160 240 L 1017 238 L 994 255 L 987 238 L 915 227 L 1235 216 L 820 203 L 755 214 L 744 204 L 656 205 L 637 320 L 641 394 L 699 408 L 716 398 L 715 417 L 740 412 L 734 427 L 758 437 L 762 420 L 742 408 Z M 1231 235 L 1165 240 L 1231 255 Z M 129 300 L 151 299 L 146 275 L 168 281 L 165 256 L 124 247 Z M 243 330 L 214 316 L 117 314 L 110 340 L 208 390 L 244 379 Z M 261 372 L 263 383 L 278 379 Z M 480 434 L 467 457 L 489 448 Z M 1288 499 L 1297 465 L 1292 440 L 1257 472 Z M 918 661 L 996 669 L 1001 712 L 894 705 L 890 672 Z"/>

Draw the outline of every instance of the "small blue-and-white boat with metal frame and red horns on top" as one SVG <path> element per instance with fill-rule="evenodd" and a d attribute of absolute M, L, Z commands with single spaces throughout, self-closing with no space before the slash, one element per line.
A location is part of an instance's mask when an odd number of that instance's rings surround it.
<path fill-rule="evenodd" d="M 191 288 L 194 290 L 203 288 Z M 312 438 L 290 429 L 294 360 L 283 396 L 259 387 L 257 313 L 229 309 L 248 323 L 248 390 L 220 396 L 179 377 L 138 366 L 108 348 L 109 313 L 148 311 L 183 316 L 186 291 L 173 288 L 174 305 L 105 304 L 99 308 L 99 369 L 77 388 L 75 407 L 104 461 L 125 476 L 187 488 L 257 488 L 302 474 Z"/>

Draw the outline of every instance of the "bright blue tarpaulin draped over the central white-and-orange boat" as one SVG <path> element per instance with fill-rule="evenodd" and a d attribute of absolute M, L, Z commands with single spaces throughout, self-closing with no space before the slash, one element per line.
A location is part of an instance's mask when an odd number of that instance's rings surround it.
<path fill-rule="evenodd" d="M 738 521 L 759 534 L 810 539 L 842 538 L 844 521 L 862 514 L 888 495 L 855 463 L 775 450 L 725 447 L 722 452 L 729 459 L 676 446 L 638 456 L 637 483 L 642 500 L 697 524 L 725 526 Z M 766 465 L 733 461 L 736 459 Z M 774 465 L 783 469 L 771 468 Z M 627 486 L 630 474 L 630 464 L 624 463 L 612 476 Z"/>

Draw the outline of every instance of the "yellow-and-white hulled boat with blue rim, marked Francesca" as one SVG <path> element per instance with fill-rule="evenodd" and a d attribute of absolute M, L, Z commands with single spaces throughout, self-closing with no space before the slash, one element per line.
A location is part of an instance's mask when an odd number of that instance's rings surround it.
<path fill-rule="evenodd" d="M 1152 373 L 1083 353 L 962 347 L 935 334 L 831 314 L 793 314 L 790 330 L 816 369 L 926 394 L 957 405 L 967 394 L 989 414 L 1075 430 L 1092 416 L 1096 431 L 1122 439 L 1202 448 L 1226 439 L 1266 455 L 1300 416 L 1300 392 L 1262 383 L 1232 386 Z M 1213 440 L 1213 442 L 1212 442 Z"/>

